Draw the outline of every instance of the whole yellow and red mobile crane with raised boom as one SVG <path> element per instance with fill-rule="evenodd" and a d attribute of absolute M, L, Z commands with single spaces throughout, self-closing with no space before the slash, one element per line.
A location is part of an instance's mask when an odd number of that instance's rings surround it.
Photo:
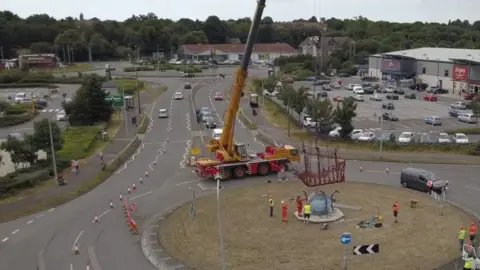
<path fill-rule="evenodd" d="M 267 146 L 265 152 L 250 156 L 245 144 L 235 143 L 235 119 L 243 96 L 248 65 L 258 33 L 266 0 L 258 0 L 255 15 L 248 33 L 242 64 L 236 72 L 235 85 L 231 92 L 230 105 L 225 114 L 223 133 L 219 140 L 207 144 L 207 150 L 215 153 L 216 160 L 200 158 L 196 171 L 201 177 L 215 179 L 244 178 L 246 175 L 267 175 L 270 172 L 285 171 L 291 162 L 299 162 L 299 151 L 292 146 Z"/>

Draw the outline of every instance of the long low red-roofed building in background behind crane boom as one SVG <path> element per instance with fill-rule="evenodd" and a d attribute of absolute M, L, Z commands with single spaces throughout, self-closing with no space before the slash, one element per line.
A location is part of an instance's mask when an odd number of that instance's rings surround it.
<path fill-rule="evenodd" d="M 216 61 L 241 61 L 245 44 L 186 44 L 177 53 L 185 59 Z M 271 62 L 280 56 L 297 55 L 298 52 L 287 43 L 255 44 L 251 61 Z M 183 58 L 182 57 L 182 58 Z"/>

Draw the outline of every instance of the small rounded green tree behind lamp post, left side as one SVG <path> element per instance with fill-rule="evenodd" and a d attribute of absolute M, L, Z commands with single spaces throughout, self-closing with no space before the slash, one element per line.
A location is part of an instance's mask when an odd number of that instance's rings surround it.
<path fill-rule="evenodd" d="M 49 120 L 42 119 L 33 124 L 33 135 L 29 139 L 31 144 L 35 149 L 43 150 L 47 153 L 47 159 L 52 158 L 52 144 L 50 142 L 50 128 Z M 63 137 L 62 131 L 56 122 L 51 122 L 52 126 L 52 138 L 53 138 L 53 148 L 55 152 L 62 149 L 63 146 Z"/>

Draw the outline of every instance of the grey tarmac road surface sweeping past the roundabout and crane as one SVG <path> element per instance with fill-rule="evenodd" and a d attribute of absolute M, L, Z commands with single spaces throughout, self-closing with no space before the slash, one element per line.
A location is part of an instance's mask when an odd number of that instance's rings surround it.
<path fill-rule="evenodd" d="M 95 270 L 156 269 L 142 254 L 140 236 L 128 232 L 119 195 L 122 193 L 137 204 L 134 218 L 142 231 L 150 225 L 147 221 L 153 216 L 190 200 L 192 189 L 196 190 L 196 196 L 212 193 L 215 184 L 208 179 L 199 179 L 191 168 L 186 167 L 193 140 L 200 137 L 205 141 L 210 136 L 210 131 L 198 130 L 201 127 L 195 123 L 194 107 L 215 108 L 221 119 L 227 102 L 211 98 L 215 92 L 230 87 L 232 80 L 227 78 L 209 83 L 209 80 L 189 79 L 194 89 L 198 88 L 196 91 L 184 90 L 186 80 L 183 79 L 149 80 L 167 85 L 169 89 L 156 100 L 150 100 L 151 104 L 145 107 L 152 121 L 139 150 L 116 174 L 90 193 L 57 208 L 0 224 L 0 260 L 5 269 L 77 270 L 85 269 L 87 264 Z M 182 91 L 185 99 L 173 100 L 176 91 Z M 170 118 L 159 119 L 159 108 L 167 108 Z M 270 134 L 274 135 L 273 132 Z M 241 124 L 236 125 L 235 139 L 247 143 L 251 151 L 263 149 L 263 142 L 257 141 L 254 134 Z M 360 166 L 364 168 L 363 172 L 359 171 Z M 480 166 L 411 166 L 431 169 L 441 178 L 448 179 L 451 189 L 447 198 L 480 213 L 476 201 L 480 185 L 475 180 Z M 348 161 L 347 181 L 399 186 L 398 173 L 404 167 L 405 164 Z M 389 174 L 385 172 L 386 168 L 389 168 Z M 139 178 L 143 178 L 143 184 L 139 183 Z M 265 180 L 227 181 L 222 186 L 232 188 Z M 137 190 L 128 195 L 127 188 L 133 183 L 136 183 Z M 114 209 L 109 208 L 110 200 L 115 204 Z M 99 224 L 93 223 L 95 216 L 99 218 Z M 455 233 L 452 232 L 452 239 Z M 452 244 L 457 243 L 452 240 Z M 75 245 L 79 247 L 80 255 L 73 255 Z M 176 269 L 182 269 L 181 265 Z"/>

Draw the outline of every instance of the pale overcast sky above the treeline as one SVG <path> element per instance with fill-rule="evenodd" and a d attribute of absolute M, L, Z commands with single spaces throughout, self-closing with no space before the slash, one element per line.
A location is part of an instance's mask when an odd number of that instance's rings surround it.
<path fill-rule="evenodd" d="M 0 9 L 21 17 L 46 13 L 55 18 L 78 17 L 125 20 L 132 14 L 155 13 L 161 18 L 221 19 L 251 17 L 256 0 L 0 0 Z M 480 20 L 480 0 L 267 0 L 265 16 L 275 21 L 298 18 L 364 16 L 397 22 Z"/>

